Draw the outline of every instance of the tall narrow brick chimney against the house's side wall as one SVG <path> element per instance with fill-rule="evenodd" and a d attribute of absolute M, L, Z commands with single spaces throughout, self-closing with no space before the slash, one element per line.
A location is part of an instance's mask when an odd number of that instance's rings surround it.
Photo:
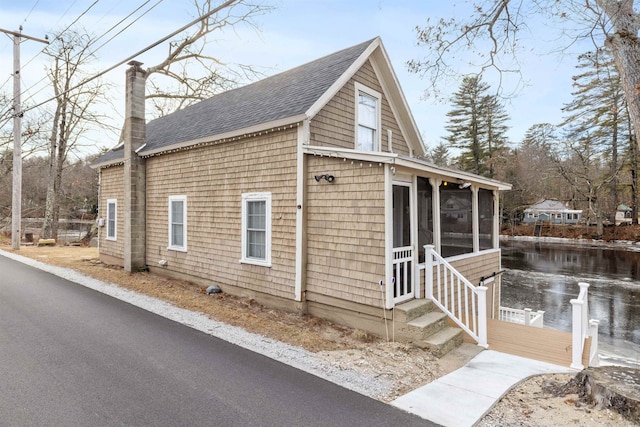
<path fill-rule="evenodd" d="M 136 153 L 146 141 L 146 72 L 141 62 L 129 62 L 125 87 L 124 119 L 124 269 L 146 267 L 146 169 Z"/>

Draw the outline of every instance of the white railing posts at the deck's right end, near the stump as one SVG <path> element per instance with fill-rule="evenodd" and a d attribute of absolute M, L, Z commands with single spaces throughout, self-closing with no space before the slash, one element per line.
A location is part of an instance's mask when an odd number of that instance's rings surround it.
<path fill-rule="evenodd" d="M 572 339 L 571 339 L 571 367 L 583 369 L 582 353 L 587 337 L 591 337 L 591 350 L 589 351 L 589 366 L 598 366 L 598 321 L 589 320 L 589 284 L 578 283 L 580 294 L 578 298 L 571 300 Z"/>

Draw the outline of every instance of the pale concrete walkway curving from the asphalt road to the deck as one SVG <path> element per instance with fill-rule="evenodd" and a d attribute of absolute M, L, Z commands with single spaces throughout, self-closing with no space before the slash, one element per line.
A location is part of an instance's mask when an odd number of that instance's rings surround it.
<path fill-rule="evenodd" d="M 462 368 L 391 404 L 443 426 L 472 426 L 522 380 L 539 374 L 575 372 L 563 366 L 485 350 Z"/>

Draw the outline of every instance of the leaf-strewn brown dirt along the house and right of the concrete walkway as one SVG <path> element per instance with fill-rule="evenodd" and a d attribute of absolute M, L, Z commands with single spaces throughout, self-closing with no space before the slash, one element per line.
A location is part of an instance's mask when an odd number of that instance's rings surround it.
<path fill-rule="evenodd" d="M 0 238 L 0 249 L 12 251 L 11 242 Z M 96 248 L 77 246 L 23 246 L 22 256 L 71 268 L 87 276 L 166 300 L 178 307 L 314 352 L 343 369 L 373 373 L 395 384 L 384 397 L 391 401 L 464 365 L 476 354 L 465 345 L 436 359 L 429 353 L 402 343 L 386 342 L 363 331 L 323 319 L 268 309 L 251 299 L 224 293 L 207 295 L 185 281 L 150 273 L 128 273 L 102 264 Z M 562 387 L 572 375 L 545 375 L 516 386 L 479 423 L 481 426 L 627 426 L 633 423 L 608 409 L 580 402 L 578 395 Z"/>

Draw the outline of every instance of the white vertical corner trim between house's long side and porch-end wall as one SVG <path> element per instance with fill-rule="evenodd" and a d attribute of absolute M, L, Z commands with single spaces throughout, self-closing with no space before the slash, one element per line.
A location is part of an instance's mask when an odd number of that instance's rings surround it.
<path fill-rule="evenodd" d="M 298 127 L 298 141 L 296 150 L 296 277 L 294 298 L 304 301 L 306 293 L 307 271 L 307 239 L 306 239 L 306 157 L 304 146 L 309 145 L 309 119 L 305 119 Z"/>

